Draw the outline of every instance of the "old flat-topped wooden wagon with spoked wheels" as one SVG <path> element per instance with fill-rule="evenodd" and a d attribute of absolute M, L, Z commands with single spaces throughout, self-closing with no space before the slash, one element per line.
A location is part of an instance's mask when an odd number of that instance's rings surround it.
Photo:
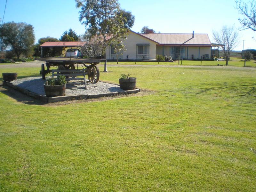
<path fill-rule="evenodd" d="M 100 71 L 97 64 L 103 61 L 100 59 L 84 59 L 77 57 L 37 58 L 36 60 L 45 61 L 46 69 L 44 63 L 41 65 L 40 74 L 42 75 L 42 79 L 45 79 L 45 75 L 52 73 L 53 71 L 61 73 L 67 78 L 70 75 L 75 76 L 76 72 L 81 71 L 81 69 L 78 69 L 78 66 L 82 66 L 84 74 L 87 75 L 88 80 L 92 83 L 97 83 L 99 81 Z M 51 70 L 51 67 L 56 67 L 57 70 Z M 63 72 L 61 72 L 61 70 Z"/>

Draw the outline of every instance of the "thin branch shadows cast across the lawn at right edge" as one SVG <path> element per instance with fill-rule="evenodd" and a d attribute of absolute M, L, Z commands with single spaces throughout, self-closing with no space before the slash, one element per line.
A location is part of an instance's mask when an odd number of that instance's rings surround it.
<path fill-rule="evenodd" d="M 256 97 L 256 84 L 250 84 L 250 83 L 244 83 L 244 84 L 229 84 L 229 83 L 223 83 L 223 84 L 197 84 L 194 87 L 197 87 L 196 89 L 199 89 L 200 91 L 196 94 L 203 94 L 206 92 L 212 92 L 215 93 L 236 93 L 240 96 L 247 96 L 247 97 Z M 207 88 L 208 87 L 208 88 Z"/>

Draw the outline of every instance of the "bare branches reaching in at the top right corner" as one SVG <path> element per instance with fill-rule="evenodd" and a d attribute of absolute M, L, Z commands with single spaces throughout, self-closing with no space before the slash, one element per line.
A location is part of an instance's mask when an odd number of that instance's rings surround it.
<path fill-rule="evenodd" d="M 252 29 L 256 31 L 256 0 L 249 0 L 249 5 L 243 1 L 236 1 L 236 9 L 244 16 L 238 19 L 242 25 L 239 30 Z"/>

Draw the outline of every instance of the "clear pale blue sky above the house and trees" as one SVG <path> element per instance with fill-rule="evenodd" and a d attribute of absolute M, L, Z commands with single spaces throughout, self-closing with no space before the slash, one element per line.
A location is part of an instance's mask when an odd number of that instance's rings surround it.
<path fill-rule="evenodd" d="M 244 0 L 248 1 L 248 0 Z M 223 25 L 240 27 L 241 16 L 234 0 L 119 0 L 121 8 L 132 11 L 135 23 L 132 30 L 138 32 L 149 26 L 161 33 L 207 33 L 212 42 L 212 30 Z M 0 0 L 0 18 L 3 18 L 5 0 Z M 73 0 L 7 0 L 4 22 L 26 22 L 34 26 L 36 41 L 41 37 L 60 38 L 63 31 L 72 28 L 83 34 L 79 22 L 79 9 Z M 235 50 L 256 49 L 256 32 L 240 31 L 240 44 Z"/>

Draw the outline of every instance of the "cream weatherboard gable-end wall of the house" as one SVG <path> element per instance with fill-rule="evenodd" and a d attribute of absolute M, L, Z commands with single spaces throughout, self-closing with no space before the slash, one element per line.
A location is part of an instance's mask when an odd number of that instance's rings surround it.
<path fill-rule="evenodd" d="M 149 44 L 149 59 L 156 59 L 156 43 L 131 31 L 127 32 L 127 39 L 124 42 L 126 51 L 123 51 L 123 56 L 119 55 L 119 59 L 135 60 L 137 54 L 137 44 Z M 107 46 L 107 60 L 113 59 L 111 55 L 111 47 Z M 116 58 L 116 57 L 115 57 Z"/>

